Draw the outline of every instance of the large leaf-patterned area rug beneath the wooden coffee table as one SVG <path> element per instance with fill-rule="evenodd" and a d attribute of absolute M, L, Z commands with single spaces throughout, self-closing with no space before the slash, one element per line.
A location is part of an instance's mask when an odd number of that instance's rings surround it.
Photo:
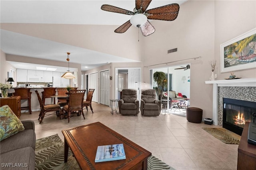
<path fill-rule="evenodd" d="M 64 142 L 58 134 L 36 140 L 36 170 L 79 170 L 76 159 L 68 152 L 64 163 Z M 148 170 L 175 170 L 155 156 L 148 158 Z"/>

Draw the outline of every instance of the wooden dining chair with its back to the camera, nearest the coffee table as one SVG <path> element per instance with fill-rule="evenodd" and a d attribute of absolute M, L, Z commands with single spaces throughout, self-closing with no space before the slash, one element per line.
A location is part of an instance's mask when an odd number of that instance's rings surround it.
<path fill-rule="evenodd" d="M 69 91 L 69 102 L 67 105 L 65 105 L 62 108 L 62 113 L 64 113 L 64 111 L 68 113 L 68 123 L 70 121 L 71 113 L 74 111 L 79 111 L 79 114 L 81 115 L 82 113 L 84 117 L 83 101 L 84 101 L 85 91 L 86 90 L 70 90 Z"/>

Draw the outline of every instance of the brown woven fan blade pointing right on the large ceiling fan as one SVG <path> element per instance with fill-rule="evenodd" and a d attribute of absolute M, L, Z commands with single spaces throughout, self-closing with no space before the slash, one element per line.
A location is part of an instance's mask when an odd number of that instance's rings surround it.
<path fill-rule="evenodd" d="M 150 20 L 173 21 L 177 18 L 179 10 L 179 4 L 169 4 L 147 10 L 145 13 L 152 14 L 148 16 Z"/>

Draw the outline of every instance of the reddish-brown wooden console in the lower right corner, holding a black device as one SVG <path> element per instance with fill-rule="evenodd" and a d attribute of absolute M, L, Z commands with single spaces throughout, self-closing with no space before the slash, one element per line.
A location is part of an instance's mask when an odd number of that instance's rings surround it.
<path fill-rule="evenodd" d="M 256 168 L 256 145 L 247 142 L 248 128 L 249 122 L 246 122 L 238 146 L 237 170 L 255 170 Z"/>

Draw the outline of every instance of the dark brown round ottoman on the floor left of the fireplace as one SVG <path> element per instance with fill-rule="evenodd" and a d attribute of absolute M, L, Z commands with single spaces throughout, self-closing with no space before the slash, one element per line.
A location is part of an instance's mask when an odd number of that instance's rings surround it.
<path fill-rule="evenodd" d="M 188 107 L 186 109 L 186 117 L 189 122 L 201 123 L 203 110 L 197 107 Z"/>

